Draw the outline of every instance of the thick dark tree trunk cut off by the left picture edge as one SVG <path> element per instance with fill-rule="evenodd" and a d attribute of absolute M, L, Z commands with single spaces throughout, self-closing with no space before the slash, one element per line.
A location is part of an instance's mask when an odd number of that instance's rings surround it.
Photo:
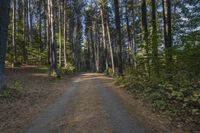
<path fill-rule="evenodd" d="M 0 88 L 5 85 L 5 57 L 10 0 L 0 1 Z"/>

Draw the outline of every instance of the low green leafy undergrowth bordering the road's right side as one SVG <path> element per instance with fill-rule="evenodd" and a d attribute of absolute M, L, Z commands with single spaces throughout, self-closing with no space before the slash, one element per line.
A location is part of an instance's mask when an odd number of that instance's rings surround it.
<path fill-rule="evenodd" d="M 171 115 L 174 121 L 200 125 L 200 81 L 188 80 L 184 74 L 174 73 L 147 78 L 143 70 L 128 68 L 116 83 L 142 97 L 155 110 Z"/>

